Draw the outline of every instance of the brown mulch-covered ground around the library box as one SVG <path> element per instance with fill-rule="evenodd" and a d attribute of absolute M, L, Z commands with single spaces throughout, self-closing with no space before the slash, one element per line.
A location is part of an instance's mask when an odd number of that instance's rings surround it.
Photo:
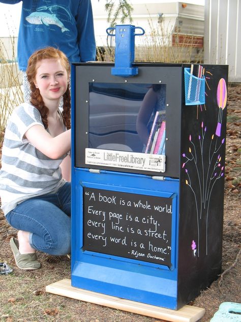
<path fill-rule="evenodd" d="M 189 305 L 205 308 L 206 312 L 201 322 L 209 322 L 222 302 L 241 301 L 241 219 L 240 219 L 240 189 L 241 189 L 241 85 L 235 84 L 228 89 L 228 118 L 226 139 L 226 169 L 225 169 L 225 199 L 223 222 L 223 272 L 219 278 L 202 291 Z M 1 140 L 0 140 L 1 142 Z M 1 154 L 1 150 L 0 150 Z M 1 155 L 0 155 L 1 156 Z M 16 236 L 16 230 L 5 221 L 0 211 L 0 261 L 7 261 L 14 269 L 12 279 L 1 277 L 2 297 L 0 296 L 1 321 L 81 321 L 81 322 L 157 322 L 157 319 L 118 311 L 94 304 L 84 303 L 53 294 L 46 294 L 45 286 L 64 278 L 70 278 L 70 259 L 68 257 L 53 257 L 39 254 L 42 269 L 36 272 L 19 270 L 9 246 L 9 240 Z M 205 274 L 205 273 L 204 273 Z M 34 286 L 32 280 L 34 279 Z M 35 298 L 26 299 L 20 296 L 33 290 Z M 36 297 L 40 297 L 36 299 Z M 48 307 L 40 304 L 48 300 Z M 44 302 L 45 301 L 45 302 Z M 21 309 L 19 305 L 21 303 Z M 18 306 L 16 305 L 18 304 Z M 43 307 L 42 307 L 42 306 Z M 41 311 L 42 309 L 42 311 Z M 42 313 L 39 313 L 39 312 Z M 31 315 L 29 315 L 32 312 Z M 34 313 L 33 313 L 34 312 Z M 42 314 L 42 315 L 41 315 Z"/>

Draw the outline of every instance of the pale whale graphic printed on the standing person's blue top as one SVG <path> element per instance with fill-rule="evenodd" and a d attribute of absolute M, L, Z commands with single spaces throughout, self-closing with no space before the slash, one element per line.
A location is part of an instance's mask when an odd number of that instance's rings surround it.
<path fill-rule="evenodd" d="M 64 24 L 54 15 L 46 12 L 33 12 L 29 16 L 25 18 L 27 22 L 32 24 L 55 24 L 59 28 L 61 28 L 62 33 L 65 31 L 69 31 L 69 29 L 65 28 Z"/>

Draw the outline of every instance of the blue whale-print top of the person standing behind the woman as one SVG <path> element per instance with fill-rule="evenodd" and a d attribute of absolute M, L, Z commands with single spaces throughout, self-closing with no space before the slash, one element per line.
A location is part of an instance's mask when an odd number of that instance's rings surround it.
<path fill-rule="evenodd" d="M 21 0 L 0 0 L 17 4 Z M 18 66 L 26 71 L 32 53 L 46 46 L 64 51 L 71 63 L 95 61 L 96 42 L 91 0 L 22 0 Z"/>

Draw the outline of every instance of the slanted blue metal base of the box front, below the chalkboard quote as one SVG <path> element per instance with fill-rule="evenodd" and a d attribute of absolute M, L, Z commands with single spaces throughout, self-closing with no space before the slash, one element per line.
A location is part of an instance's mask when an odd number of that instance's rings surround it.
<path fill-rule="evenodd" d="M 177 309 L 177 282 L 157 276 L 123 271 L 113 267 L 76 262 L 73 287 L 91 290 L 135 302 Z"/>

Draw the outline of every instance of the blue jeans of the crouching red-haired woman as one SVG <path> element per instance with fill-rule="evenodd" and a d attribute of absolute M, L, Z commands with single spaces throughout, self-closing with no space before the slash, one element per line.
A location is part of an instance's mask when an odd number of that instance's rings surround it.
<path fill-rule="evenodd" d="M 51 255 L 70 254 L 71 184 L 66 182 L 56 194 L 25 200 L 9 211 L 6 219 L 18 229 L 30 232 L 32 248 Z"/>

